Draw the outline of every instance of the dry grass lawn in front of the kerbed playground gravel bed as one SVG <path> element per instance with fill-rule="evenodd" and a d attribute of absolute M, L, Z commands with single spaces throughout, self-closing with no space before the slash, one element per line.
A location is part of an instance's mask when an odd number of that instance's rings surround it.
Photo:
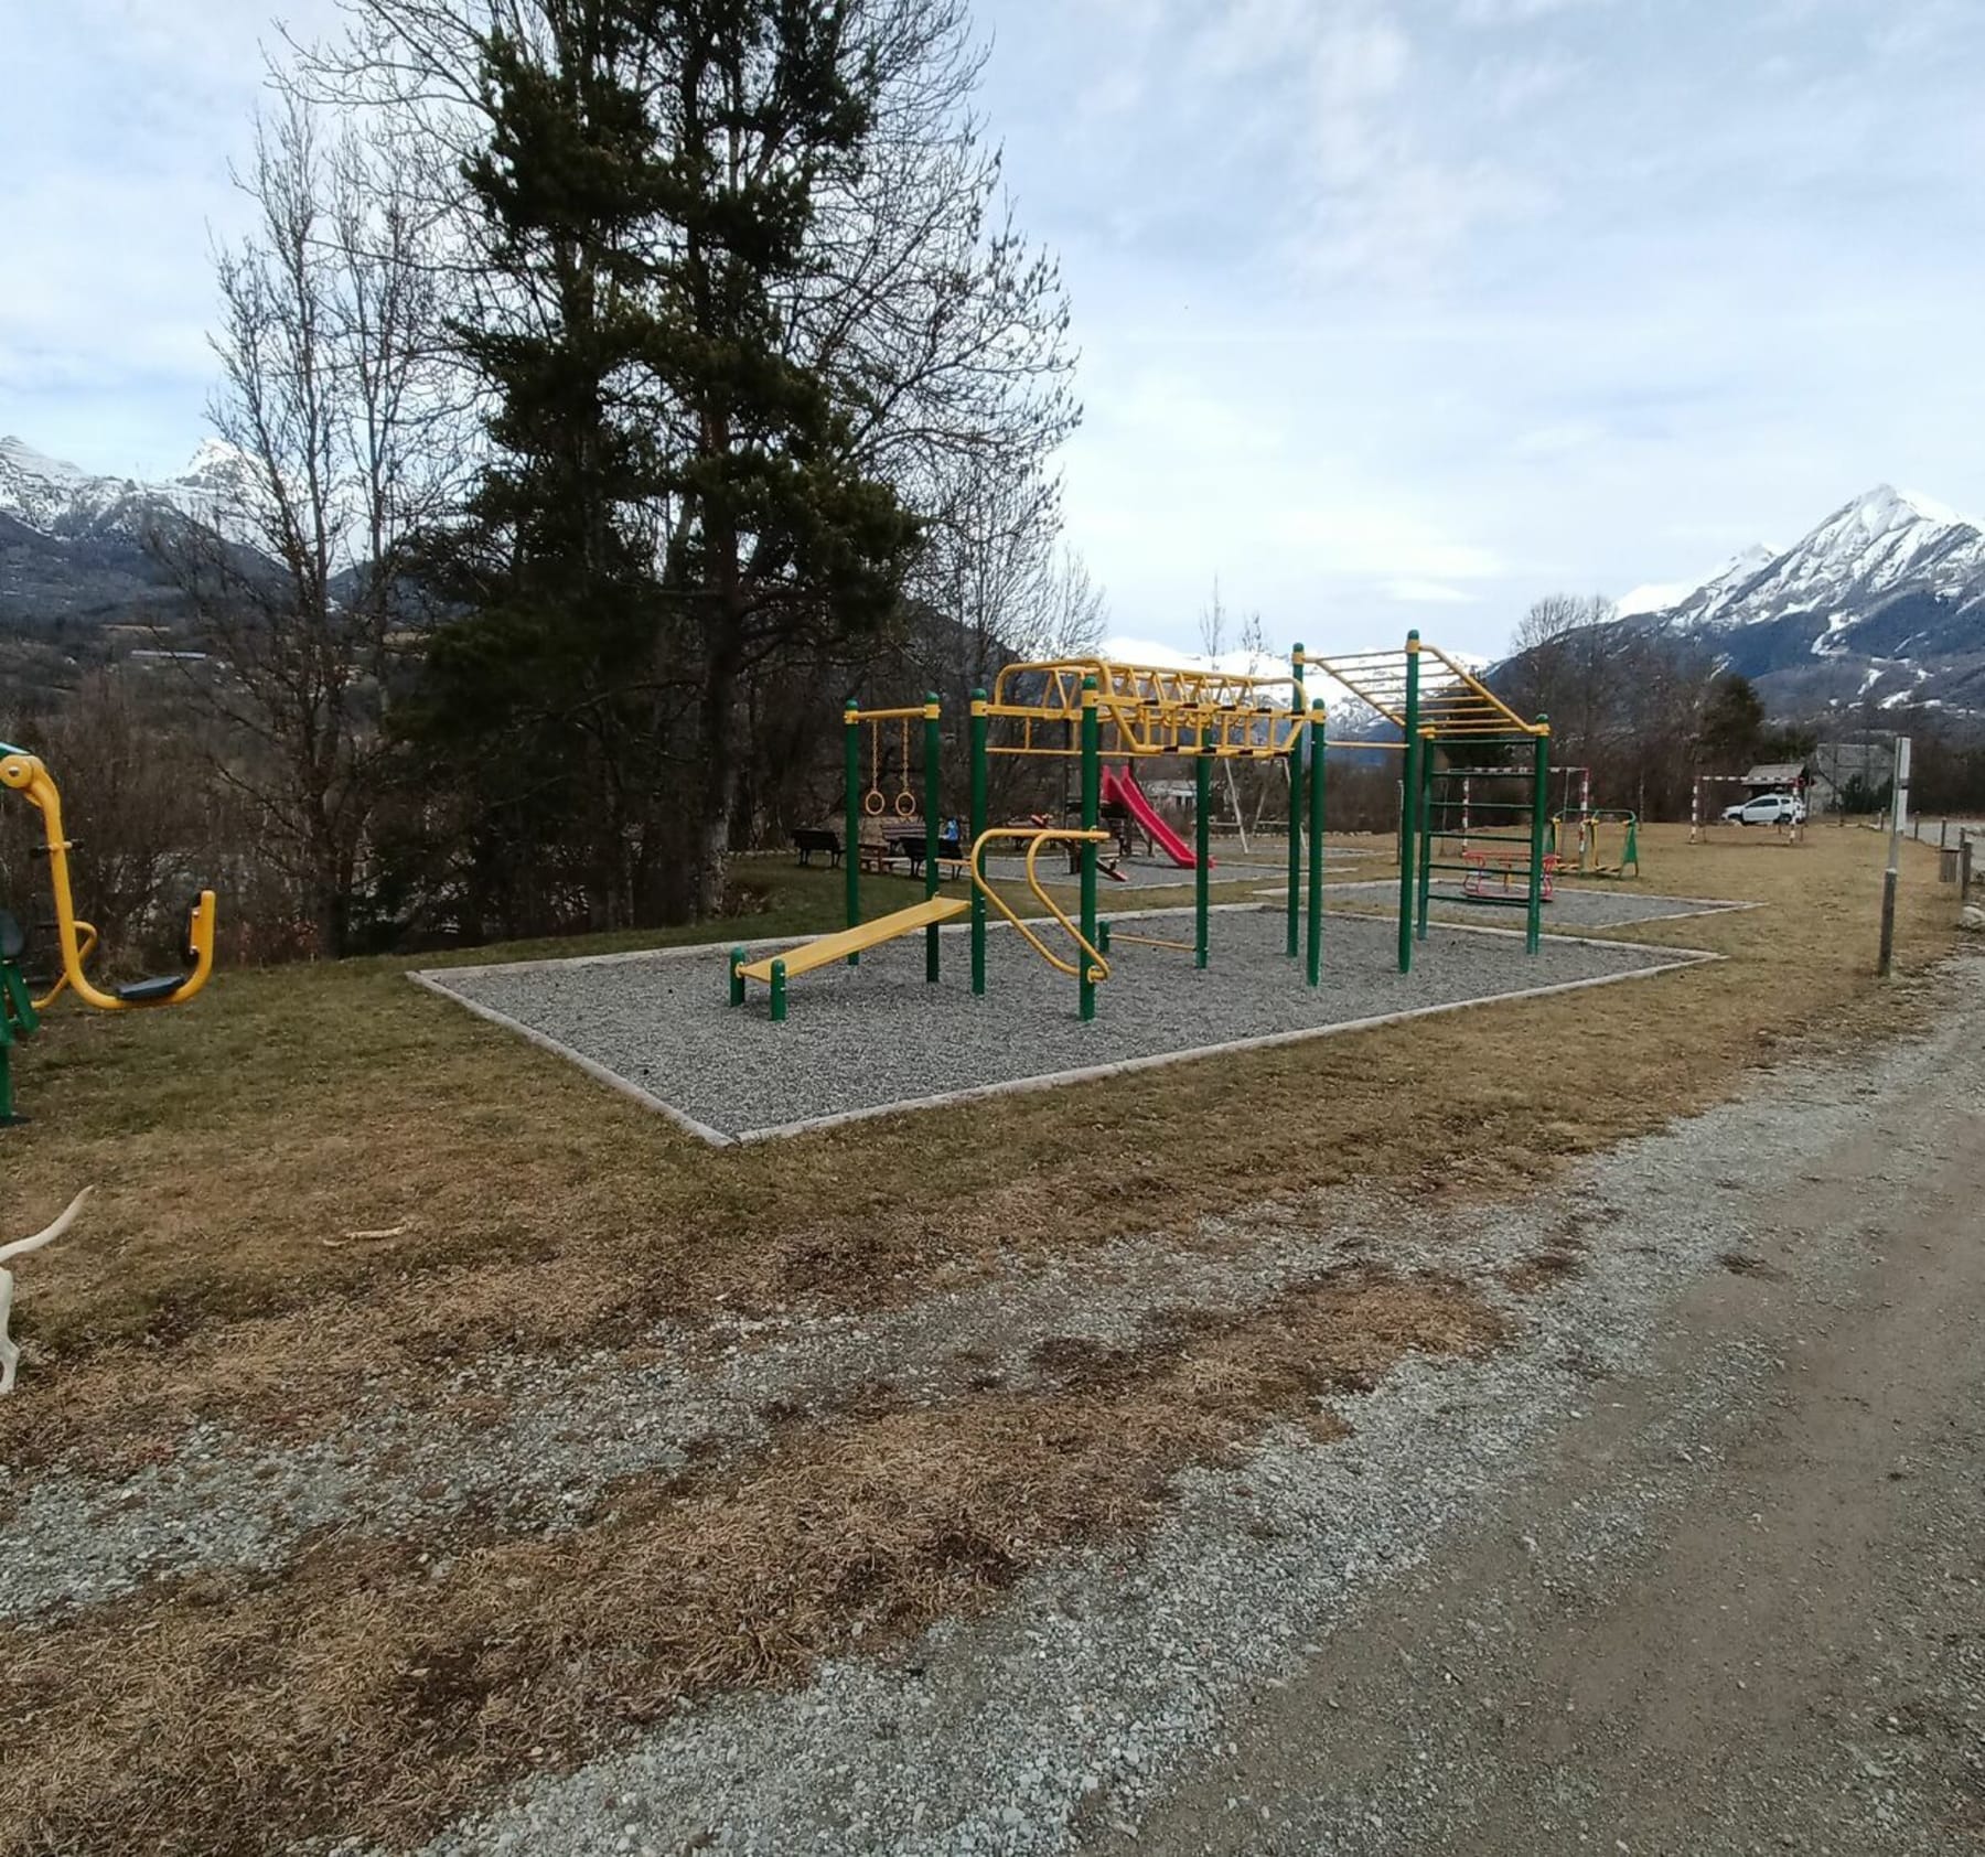
<path fill-rule="evenodd" d="M 389 964 L 54 1018 L 22 1065 L 42 1119 L 0 1137 L 0 1230 L 101 1190 L 24 1272 L 0 1450 L 143 1456 L 195 1415 L 318 1428 L 361 1377 L 417 1403 L 437 1363 L 486 1349 L 895 1303 L 1270 1192 L 1322 1194 L 1316 1216 L 1346 1182 L 1503 1192 L 1788 1048 L 1906 1018 L 1908 988 L 1872 972 L 1878 835 L 1679 837 L 1648 833 L 1650 889 L 1767 907 L 1622 932 L 1727 962 L 746 1151 L 701 1147 Z M 1949 946 L 1951 913 L 1912 847 L 1906 970 Z"/>

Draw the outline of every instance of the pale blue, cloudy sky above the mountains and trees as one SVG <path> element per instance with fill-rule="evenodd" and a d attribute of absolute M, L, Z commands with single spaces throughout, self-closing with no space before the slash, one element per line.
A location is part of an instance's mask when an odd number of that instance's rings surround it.
<path fill-rule="evenodd" d="M 331 0 L 274 8 L 326 30 Z M 979 0 L 1114 631 L 1493 651 L 1878 480 L 1985 510 L 1985 0 Z M 270 0 L 0 0 L 0 431 L 165 474 Z"/>

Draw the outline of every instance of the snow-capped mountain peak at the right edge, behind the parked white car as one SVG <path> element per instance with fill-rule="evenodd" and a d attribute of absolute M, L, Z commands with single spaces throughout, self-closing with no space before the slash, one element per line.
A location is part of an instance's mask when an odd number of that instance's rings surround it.
<path fill-rule="evenodd" d="M 1890 484 L 1788 550 L 1747 550 L 1697 587 L 1636 589 L 1622 619 L 1715 655 L 1779 714 L 1904 700 L 1985 712 L 1985 530 Z"/>

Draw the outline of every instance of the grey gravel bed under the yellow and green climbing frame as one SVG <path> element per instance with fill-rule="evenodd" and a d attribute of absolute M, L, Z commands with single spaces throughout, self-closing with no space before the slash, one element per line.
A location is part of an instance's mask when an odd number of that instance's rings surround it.
<path fill-rule="evenodd" d="M 1191 934 L 1189 917 L 1169 913 L 1141 917 L 1139 927 Z M 687 958 L 671 950 L 449 968 L 427 978 L 705 1129 L 738 1137 L 1237 1040 L 1616 980 L 1677 960 L 1673 950 L 1576 940 L 1546 940 L 1526 956 L 1505 936 L 1435 932 L 1403 976 L 1391 930 L 1344 915 L 1330 919 L 1324 984 L 1310 992 L 1282 936 L 1280 913 L 1229 909 L 1213 919 L 1205 972 L 1189 956 L 1125 948 L 1092 1024 L 1076 1016 L 1074 982 L 1010 930 L 989 936 L 985 998 L 973 998 L 967 984 L 963 932 L 945 938 L 941 986 L 925 984 L 915 936 L 863 954 L 860 968 L 818 968 L 794 980 L 784 1026 L 770 1022 L 762 986 L 752 986 L 742 1008 L 727 1004 L 725 956 L 715 948 Z"/>

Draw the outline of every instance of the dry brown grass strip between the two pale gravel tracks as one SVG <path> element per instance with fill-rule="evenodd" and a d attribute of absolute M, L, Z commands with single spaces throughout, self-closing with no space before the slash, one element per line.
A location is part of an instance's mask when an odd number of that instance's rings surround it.
<path fill-rule="evenodd" d="M 280 1581 L 187 1579 L 0 1633 L 0 1847 L 405 1843 L 679 1696 L 790 1682 L 971 1609 L 1145 1526 L 1177 1470 L 1274 1419 L 1328 1434 L 1316 1395 L 1499 1337 L 1459 1286 L 1346 1272 L 1247 1317 L 1177 1311 L 1135 1349 L 1050 1349 L 1044 1391 L 877 1395 L 740 1468 L 623 1486 L 566 1538 L 466 1538 L 439 1567 L 343 1542 Z"/>

